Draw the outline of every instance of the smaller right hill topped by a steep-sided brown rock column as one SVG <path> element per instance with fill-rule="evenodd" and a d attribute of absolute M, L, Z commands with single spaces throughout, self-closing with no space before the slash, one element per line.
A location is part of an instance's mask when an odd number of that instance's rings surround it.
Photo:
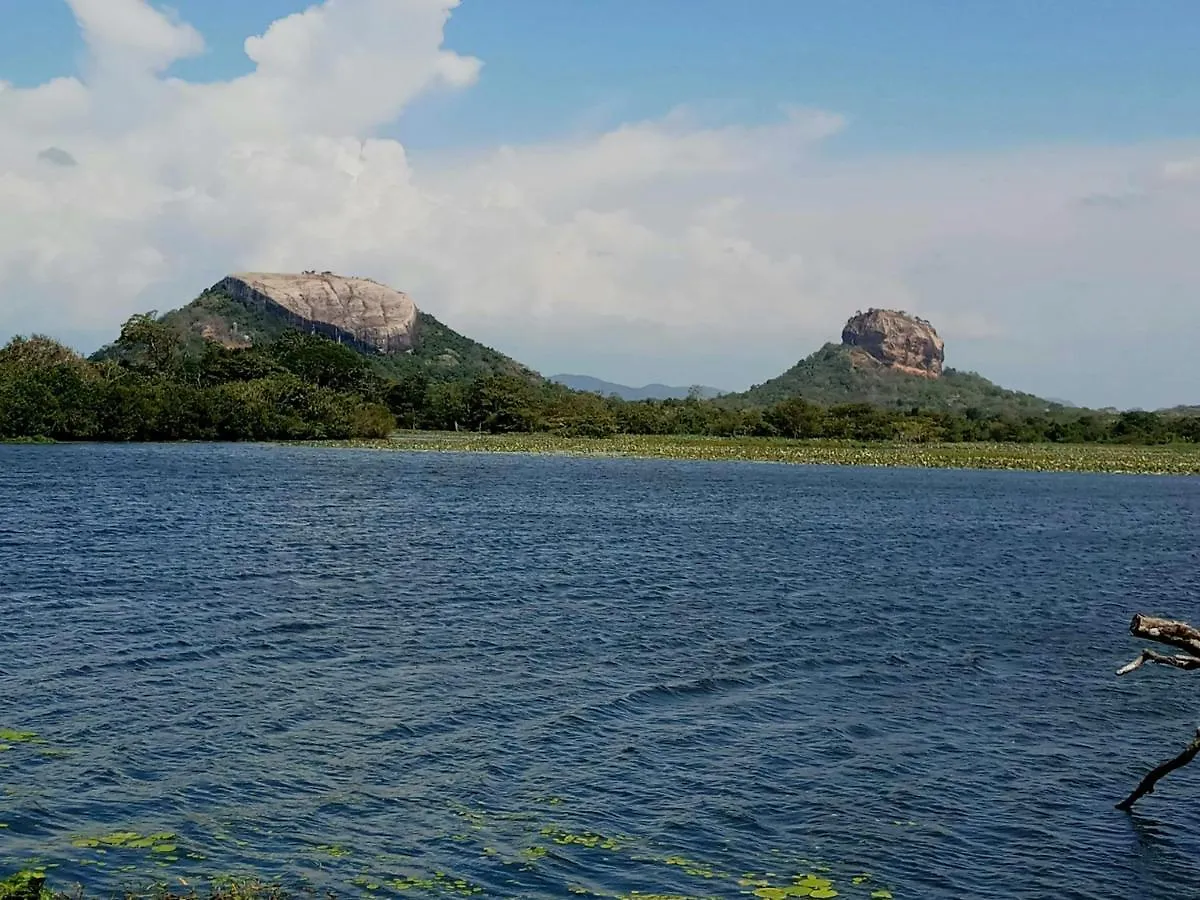
<path fill-rule="evenodd" d="M 766 406 L 803 397 L 821 406 L 870 403 L 983 415 L 1063 409 L 1061 403 L 1006 390 L 973 372 L 943 368 L 943 359 L 942 340 L 930 323 L 902 312 L 871 310 L 851 318 L 841 344 L 826 344 L 736 398 Z"/>

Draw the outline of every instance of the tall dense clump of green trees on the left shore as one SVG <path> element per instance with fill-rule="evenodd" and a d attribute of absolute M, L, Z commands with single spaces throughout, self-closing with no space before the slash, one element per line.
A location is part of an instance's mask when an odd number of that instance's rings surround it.
<path fill-rule="evenodd" d="M 384 437 L 388 408 L 355 380 L 352 350 L 288 335 L 256 350 L 196 356 L 149 316 L 89 361 L 46 337 L 0 349 L 0 439 L 306 440 Z"/>

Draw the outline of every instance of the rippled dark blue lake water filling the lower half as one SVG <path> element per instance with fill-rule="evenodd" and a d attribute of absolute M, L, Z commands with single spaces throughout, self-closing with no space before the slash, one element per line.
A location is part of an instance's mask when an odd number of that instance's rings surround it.
<path fill-rule="evenodd" d="M 0 868 L 1198 896 L 1200 766 L 1112 809 L 1196 720 L 1114 671 L 1200 619 L 1198 538 L 1177 479 L 0 448 L 0 726 L 48 742 Z M 116 830 L 175 850 L 72 845 Z"/>

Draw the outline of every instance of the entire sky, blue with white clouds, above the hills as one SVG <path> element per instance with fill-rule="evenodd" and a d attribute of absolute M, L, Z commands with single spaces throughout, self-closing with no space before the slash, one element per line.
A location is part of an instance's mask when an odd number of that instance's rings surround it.
<path fill-rule="evenodd" d="M 535 368 L 739 390 L 871 306 L 1200 402 L 1194 0 L 0 0 L 0 340 L 334 270 Z"/>

